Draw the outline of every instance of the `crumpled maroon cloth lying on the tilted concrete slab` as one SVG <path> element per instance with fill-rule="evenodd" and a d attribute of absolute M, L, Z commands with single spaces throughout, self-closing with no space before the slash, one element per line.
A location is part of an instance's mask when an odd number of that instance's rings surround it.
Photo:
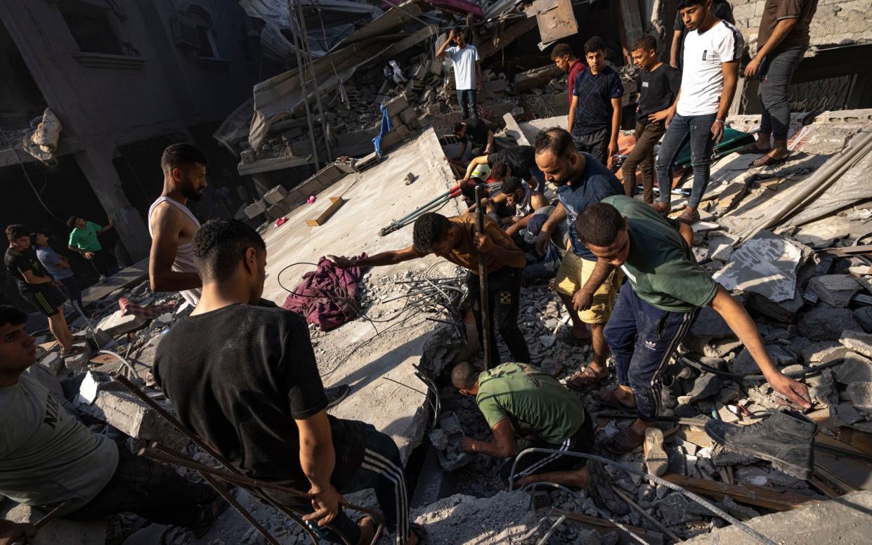
<path fill-rule="evenodd" d="M 303 282 L 294 288 L 282 306 L 299 313 L 306 322 L 317 325 L 322 331 L 332 330 L 358 316 L 361 276 L 360 267 L 339 269 L 322 255 L 318 268 L 303 275 Z"/>

